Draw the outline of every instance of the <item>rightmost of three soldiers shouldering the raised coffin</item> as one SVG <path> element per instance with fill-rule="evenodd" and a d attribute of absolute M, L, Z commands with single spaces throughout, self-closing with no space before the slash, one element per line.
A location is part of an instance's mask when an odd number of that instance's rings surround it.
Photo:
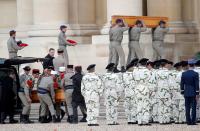
<path fill-rule="evenodd" d="M 163 59 L 164 54 L 164 38 L 165 34 L 169 31 L 169 28 L 166 28 L 166 22 L 160 21 L 159 26 L 153 29 L 153 49 L 154 49 L 154 58 L 156 60 Z"/>

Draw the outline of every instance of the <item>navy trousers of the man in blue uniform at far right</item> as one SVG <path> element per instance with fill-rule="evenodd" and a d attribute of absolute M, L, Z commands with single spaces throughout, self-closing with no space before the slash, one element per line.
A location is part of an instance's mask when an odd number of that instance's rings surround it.
<path fill-rule="evenodd" d="M 187 124 L 196 123 L 196 106 L 197 106 L 196 97 L 185 97 L 185 111 L 186 111 Z M 192 109 L 192 114 L 191 114 L 191 109 Z"/>

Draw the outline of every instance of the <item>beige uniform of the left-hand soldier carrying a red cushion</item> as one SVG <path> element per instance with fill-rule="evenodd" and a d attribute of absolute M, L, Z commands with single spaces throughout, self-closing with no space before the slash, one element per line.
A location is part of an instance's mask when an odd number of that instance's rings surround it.
<path fill-rule="evenodd" d="M 7 41 L 9 58 L 16 58 L 18 50 L 23 49 L 24 47 L 20 47 L 17 45 L 17 41 L 14 37 L 10 37 Z"/>

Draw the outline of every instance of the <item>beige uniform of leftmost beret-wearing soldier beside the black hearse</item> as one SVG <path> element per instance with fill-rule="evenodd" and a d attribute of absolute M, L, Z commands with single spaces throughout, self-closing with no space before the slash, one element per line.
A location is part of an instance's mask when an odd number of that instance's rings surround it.
<path fill-rule="evenodd" d="M 29 115 L 31 110 L 31 103 L 28 102 L 30 99 L 30 88 L 27 85 L 27 80 L 31 78 L 30 75 L 23 74 L 20 76 L 20 89 L 18 92 L 19 98 L 23 104 L 22 115 Z"/>

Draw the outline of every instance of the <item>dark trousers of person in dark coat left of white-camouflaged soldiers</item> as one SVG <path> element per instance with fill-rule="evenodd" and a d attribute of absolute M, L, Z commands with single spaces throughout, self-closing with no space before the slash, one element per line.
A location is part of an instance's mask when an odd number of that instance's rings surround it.
<path fill-rule="evenodd" d="M 83 117 L 86 117 L 87 114 L 86 114 L 86 105 L 85 105 L 85 102 L 82 102 L 82 103 L 77 103 L 77 102 L 72 102 L 72 107 L 73 107 L 73 120 L 75 122 L 78 122 L 78 106 L 80 107 L 81 109 L 81 112 L 83 114 Z"/>

